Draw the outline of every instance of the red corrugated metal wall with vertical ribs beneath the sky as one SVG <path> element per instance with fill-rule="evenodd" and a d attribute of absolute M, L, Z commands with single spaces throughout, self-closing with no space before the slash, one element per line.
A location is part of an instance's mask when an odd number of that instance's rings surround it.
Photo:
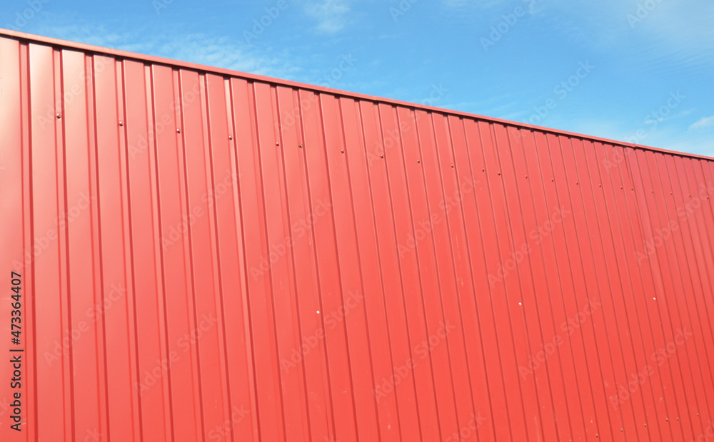
<path fill-rule="evenodd" d="M 3 441 L 712 431 L 710 158 L 0 34 Z"/>

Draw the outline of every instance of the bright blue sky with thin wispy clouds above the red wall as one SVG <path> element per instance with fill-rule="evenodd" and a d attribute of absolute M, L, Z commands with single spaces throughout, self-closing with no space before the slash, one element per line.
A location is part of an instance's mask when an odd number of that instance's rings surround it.
<path fill-rule="evenodd" d="M 711 0 L 5 0 L 0 26 L 714 156 Z"/>

